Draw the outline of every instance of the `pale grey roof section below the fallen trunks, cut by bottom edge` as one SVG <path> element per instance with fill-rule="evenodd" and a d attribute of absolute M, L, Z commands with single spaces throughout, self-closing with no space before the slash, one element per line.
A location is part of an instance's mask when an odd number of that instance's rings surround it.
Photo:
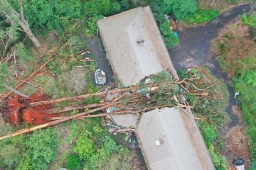
<path fill-rule="evenodd" d="M 178 108 L 144 113 L 135 133 L 149 170 L 215 169 L 195 120 Z"/>

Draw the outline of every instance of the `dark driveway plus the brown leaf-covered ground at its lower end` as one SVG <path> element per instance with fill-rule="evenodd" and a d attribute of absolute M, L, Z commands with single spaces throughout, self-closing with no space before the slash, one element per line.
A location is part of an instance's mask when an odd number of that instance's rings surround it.
<path fill-rule="evenodd" d="M 213 40 L 217 36 L 218 30 L 223 28 L 226 23 L 233 21 L 233 19 L 249 10 L 250 4 L 235 6 L 234 8 L 224 11 L 218 18 L 210 23 L 206 23 L 204 26 L 185 28 L 182 32 L 179 32 L 180 43 L 178 47 L 169 49 L 171 60 L 176 69 L 189 69 L 204 65 L 209 67 L 210 71 L 218 79 L 223 79 L 225 84 L 228 85 L 230 103 L 226 111 L 228 115 L 230 115 L 231 121 L 221 132 L 223 133 L 222 138 L 225 141 L 226 147 L 223 154 L 227 157 L 229 163 L 232 162 L 233 158 L 242 157 L 245 159 L 247 165 L 250 164 L 250 152 L 248 151 L 249 146 L 247 145 L 245 128 L 243 128 L 242 112 L 238 114 L 234 111 L 237 102 L 233 98 L 235 92 L 231 86 L 232 81 L 228 79 L 227 74 L 220 69 L 215 55 L 210 52 L 210 40 Z M 233 144 L 234 139 L 239 141 Z M 234 148 L 238 149 L 235 150 Z"/>

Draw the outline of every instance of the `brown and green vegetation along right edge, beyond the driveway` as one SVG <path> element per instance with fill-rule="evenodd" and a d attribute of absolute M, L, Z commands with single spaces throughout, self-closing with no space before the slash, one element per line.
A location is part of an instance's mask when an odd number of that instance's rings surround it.
<path fill-rule="evenodd" d="M 233 79 L 233 87 L 240 94 L 238 101 L 242 105 L 246 133 L 252 152 L 251 169 L 254 169 L 256 161 L 256 42 L 250 38 L 250 29 L 255 25 L 255 18 L 244 14 L 242 21 L 230 23 L 220 31 L 215 40 L 218 61 L 228 76 Z"/>

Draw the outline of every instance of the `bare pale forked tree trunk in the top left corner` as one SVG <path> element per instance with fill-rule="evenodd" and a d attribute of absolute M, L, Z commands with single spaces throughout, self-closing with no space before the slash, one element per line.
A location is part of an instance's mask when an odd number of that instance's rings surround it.
<path fill-rule="evenodd" d="M 10 23 L 12 26 L 21 26 L 22 29 L 20 30 L 22 30 L 24 33 L 26 33 L 26 35 L 28 35 L 28 38 L 32 40 L 33 44 L 36 45 L 36 47 L 41 47 L 40 42 L 38 41 L 36 36 L 33 35 L 31 28 L 28 25 L 28 22 L 24 18 L 22 0 L 19 0 L 18 2 L 21 7 L 20 13 L 15 11 L 7 0 L 0 0 L 0 15 L 6 18 L 6 21 Z"/>

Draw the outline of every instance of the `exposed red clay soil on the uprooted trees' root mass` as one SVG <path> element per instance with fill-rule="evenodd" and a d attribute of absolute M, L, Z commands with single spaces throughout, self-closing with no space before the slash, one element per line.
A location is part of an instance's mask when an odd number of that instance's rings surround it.
<path fill-rule="evenodd" d="M 6 123 L 11 123 L 12 125 L 18 125 L 21 122 L 30 125 L 48 123 L 55 117 L 60 116 L 60 114 L 46 114 L 41 111 L 47 111 L 47 109 L 53 108 L 51 104 L 26 108 L 26 103 L 45 101 L 47 99 L 48 96 L 46 94 L 40 94 L 39 92 L 32 94 L 28 99 L 24 99 L 21 96 L 15 96 L 7 103 L 7 106 L 1 108 L 4 120 Z"/>

